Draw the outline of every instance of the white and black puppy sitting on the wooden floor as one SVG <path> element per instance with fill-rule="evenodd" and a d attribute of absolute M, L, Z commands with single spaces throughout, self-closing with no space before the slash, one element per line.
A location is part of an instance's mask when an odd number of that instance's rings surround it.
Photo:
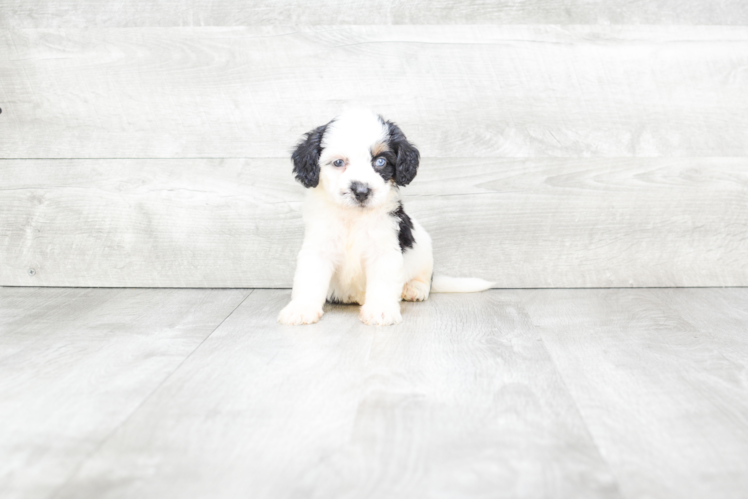
<path fill-rule="evenodd" d="M 291 302 L 280 323 L 316 323 L 327 300 L 360 304 L 367 325 L 394 325 L 402 321 L 401 299 L 492 285 L 433 276 L 431 238 L 405 213 L 399 189 L 415 178 L 420 154 L 394 123 L 370 111 L 345 112 L 307 133 L 292 159 L 309 192 Z"/>

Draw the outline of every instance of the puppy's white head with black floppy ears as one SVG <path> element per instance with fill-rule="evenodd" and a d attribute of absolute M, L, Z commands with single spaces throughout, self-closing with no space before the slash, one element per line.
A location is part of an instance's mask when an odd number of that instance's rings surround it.
<path fill-rule="evenodd" d="M 420 155 L 400 128 L 370 111 L 349 111 L 308 132 L 291 155 L 304 186 L 337 204 L 376 207 L 416 176 Z"/>

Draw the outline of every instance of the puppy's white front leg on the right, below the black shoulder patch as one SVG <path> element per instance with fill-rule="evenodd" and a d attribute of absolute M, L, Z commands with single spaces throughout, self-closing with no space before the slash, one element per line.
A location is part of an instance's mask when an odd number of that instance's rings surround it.
<path fill-rule="evenodd" d="M 403 257 L 398 252 L 387 254 L 366 265 L 366 300 L 359 318 L 367 325 L 396 325 L 400 315 L 400 294 L 403 290 Z"/>

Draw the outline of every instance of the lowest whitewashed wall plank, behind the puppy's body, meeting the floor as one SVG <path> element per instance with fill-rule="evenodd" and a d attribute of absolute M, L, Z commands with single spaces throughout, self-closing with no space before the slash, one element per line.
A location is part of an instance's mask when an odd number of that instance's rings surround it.
<path fill-rule="evenodd" d="M 290 169 L 0 161 L 0 283 L 289 287 L 304 195 Z M 744 158 L 425 158 L 404 196 L 438 273 L 502 288 L 748 285 Z"/>

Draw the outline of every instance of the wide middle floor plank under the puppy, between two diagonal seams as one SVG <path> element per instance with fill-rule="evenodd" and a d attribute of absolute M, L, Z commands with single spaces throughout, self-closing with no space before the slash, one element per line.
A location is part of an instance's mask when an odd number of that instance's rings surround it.
<path fill-rule="evenodd" d="M 611 497 L 517 295 L 436 295 L 369 328 L 284 327 L 258 290 L 63 497 Z"/>

